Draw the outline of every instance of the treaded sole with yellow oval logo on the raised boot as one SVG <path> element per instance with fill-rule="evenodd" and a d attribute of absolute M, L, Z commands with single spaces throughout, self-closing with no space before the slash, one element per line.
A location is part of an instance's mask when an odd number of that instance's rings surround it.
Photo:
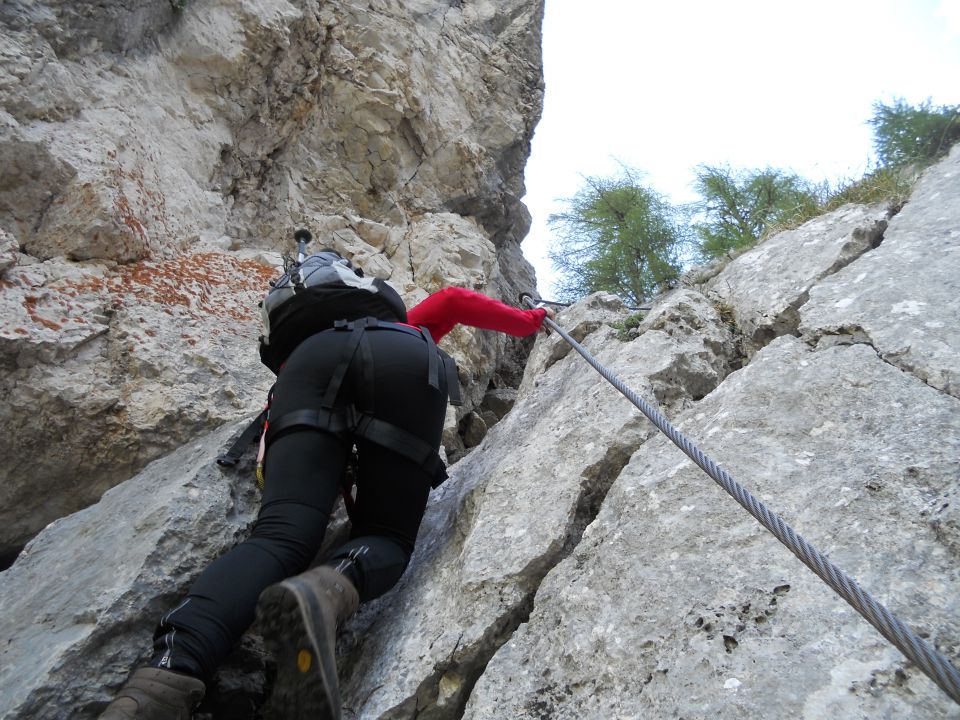
<path fill-rule="evenodd" d="M 314 593 L 297 578 L 271 585 L 260 595 L 257 619 L 267 650 L 277 663 L 273 692 L 263 707 L 267 720 L 340 720 L 336 638 L 327 632 Z"/>

